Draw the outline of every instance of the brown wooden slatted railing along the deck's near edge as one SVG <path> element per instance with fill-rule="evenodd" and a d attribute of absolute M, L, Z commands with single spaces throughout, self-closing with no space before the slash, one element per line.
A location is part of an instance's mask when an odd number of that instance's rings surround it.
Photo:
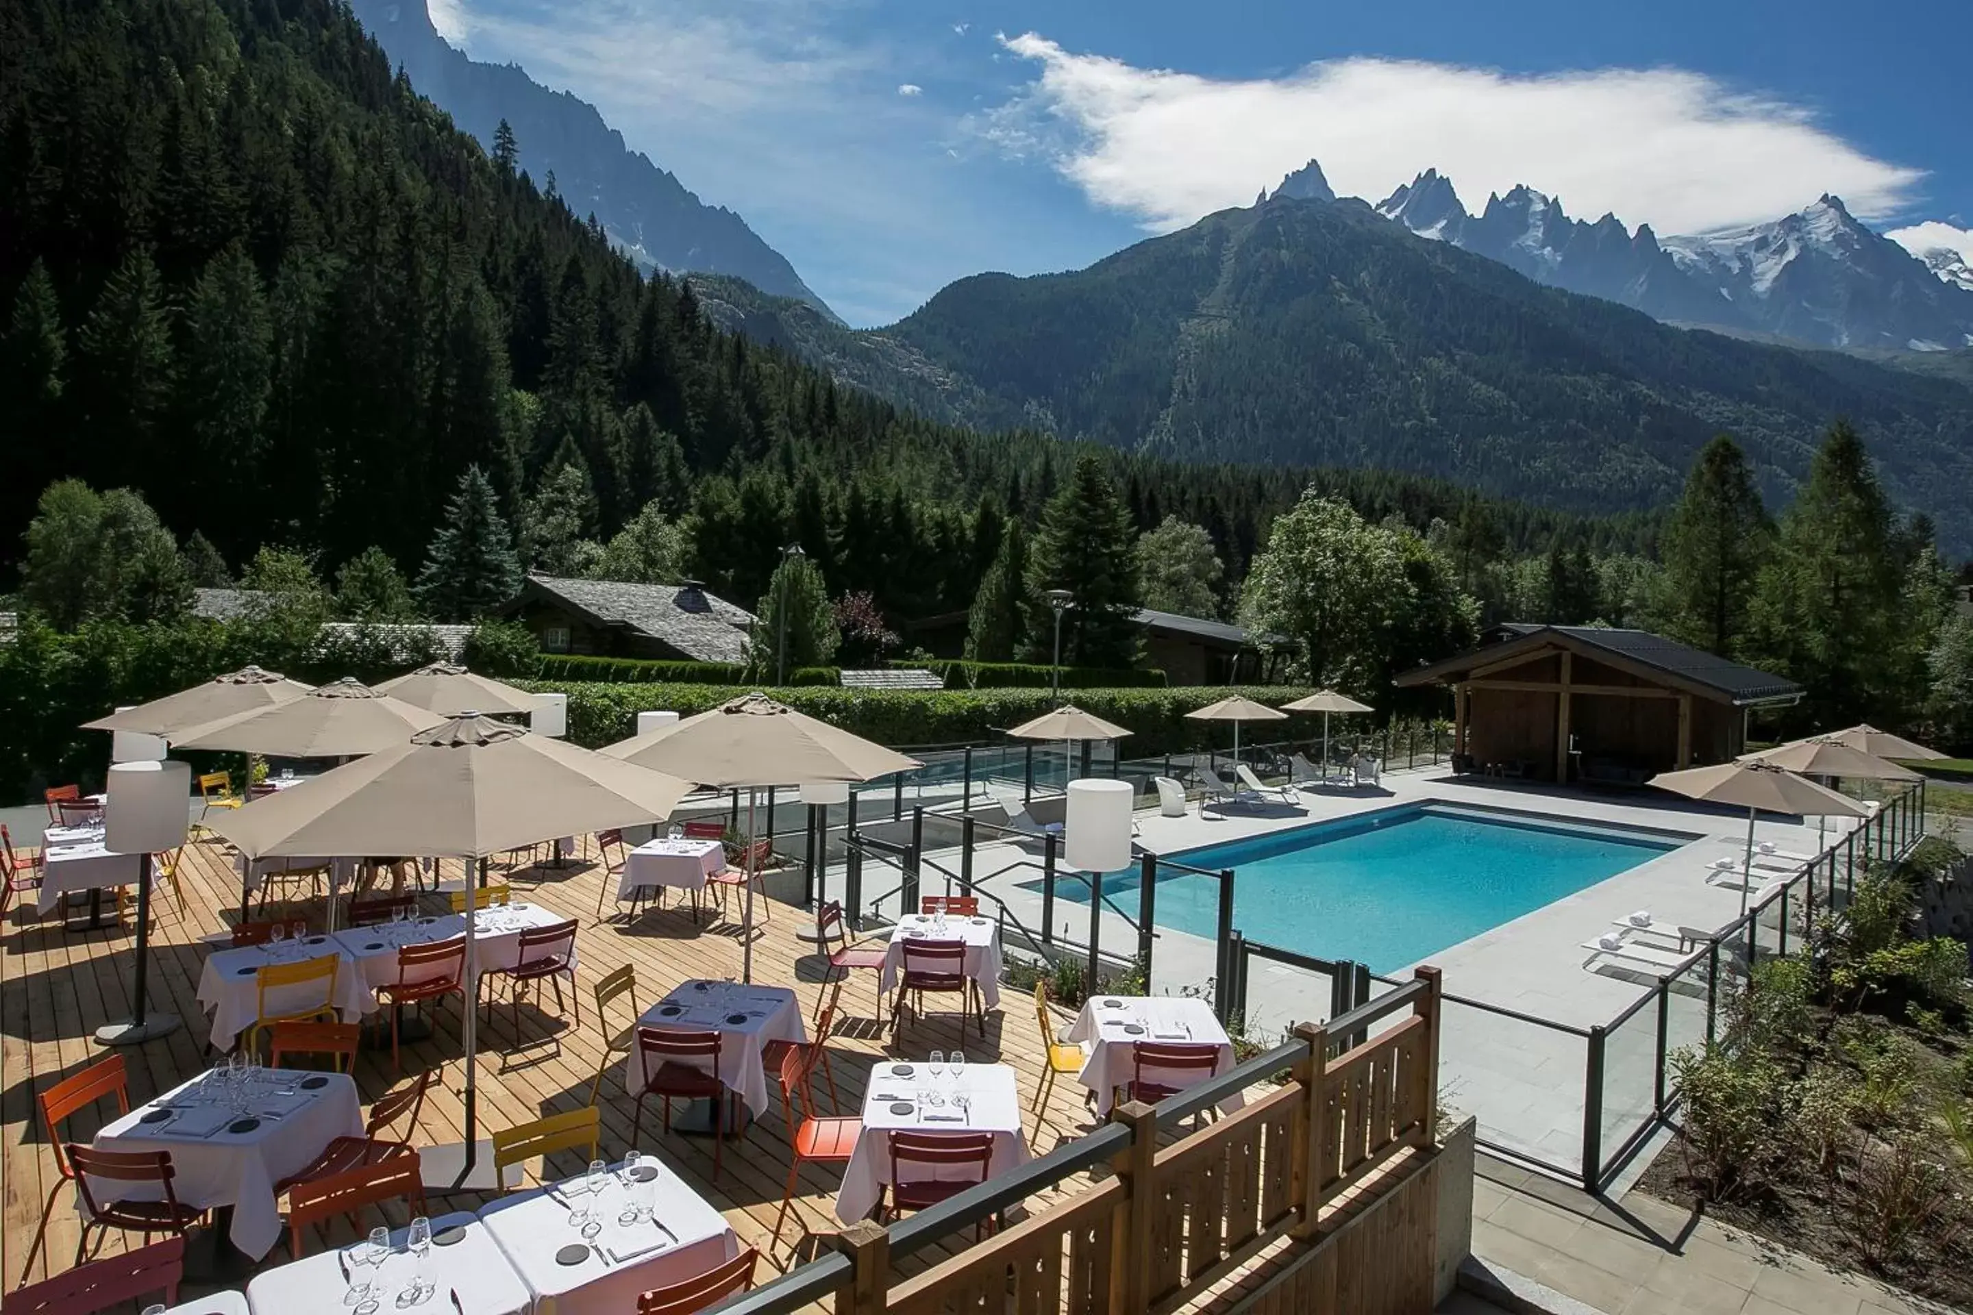
<path fill-rule="evenodd" d="M 1330 1293 L 1357 1293 L 1350 1315 L 1413 1309 L 1421 1283 L 1430 1291 L 1432 1270 L 1426 1258 L 1419 1274 L 1417 1236 L 1393 1246 L 1322 1246 L 1336 1220 L 1359 1216 L 1365 1203 L 1417 1177 L 1399 1163 L 1405 1151 L 1432 1145 L 1438 994 L 1438 970 L 1419 968 L 1405 986 L 1328 1027 L 1296 1027 L 1284 1045 L 1211 1082 L 1158 1106 L 1119 1106 L 1109 1126 L 1012 1175 L 888 1230 L 852 1224 L 837 1238 L 839 1254 L 718 1309 L 773 1315 L 833 1293 L 837 1315 L 1164 1313 L 1241 1276 L 1263 1252 L 1275 1258 L 1284 1244 L 1302 1260 L 1334 1268 L 1322 1283 Z M 1369 1035 L 1393 1015 L 1403 1017 Z M 1158 1145 L 1160 1134 L 1182 1120 L 1231 1104 L 1282 1073 L 1286 1084 Z M 1107 1165 L 1111 1177 L 921 1274 L 894 1274 L 898 1258 L 1097 1165 Z M 1428 1189 L 1436 1191 L 1436 1179 Z M 1434 1212 L 1407 1209 L 1395 1216 L 1417 1234 L 1417 1220 Z M 1430 1226 L 1423 1228 L 1428 1240 Z M 1361 1303 L 1363 1293 L 1401 1299 Z M 1334 1301 L 1296 1309 L 1340 1315 Z"/>

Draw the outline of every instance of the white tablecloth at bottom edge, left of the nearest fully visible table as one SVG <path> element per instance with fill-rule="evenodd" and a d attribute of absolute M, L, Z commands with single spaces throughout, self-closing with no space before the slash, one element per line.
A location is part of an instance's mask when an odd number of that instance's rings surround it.
<path fill-rule="evenodd" d="M 365 1214 L 365 1224 L 373 1222 Z M 404 1250 L 408 1228 L 391 1232 L 391 1246 L 397 1252 L 381 1270 L 361 1270 L 383 1293 L 377 1303 L 379 1315 L 385 1311 L 408 1309 L 416 1315 L 454 1315 L 452 1293 L 460 1297 L 466 1315 L 527 1315 L 535 1303 L 535 1293 L 527 1289 L 521 1276 L 507 1264 L 493 1234 L 487 1232 L 474 1214 L 460 1211 L 432 1218 L 432 1236 L 438 1238 L 448 1228 L 464 1230 L 458 1242 L 446 1246 L 432 1244 L 430 1276 L 438 1285 L 430 1297 L 414 1307 L 399 1307 L 397 1293 L 408 1289 L 418 1268 L 410 1252 Z M 351 1274 L 357 1274 L 351 1264 Z M 343 1278 L 343 1254 L 339 1250 L 316 1252 L 296 1262 L 276 1266 L 247 1283 L 247 1303 L 253 1315 L 349 1315 L 343 1293 L 349 1280 Z"/>

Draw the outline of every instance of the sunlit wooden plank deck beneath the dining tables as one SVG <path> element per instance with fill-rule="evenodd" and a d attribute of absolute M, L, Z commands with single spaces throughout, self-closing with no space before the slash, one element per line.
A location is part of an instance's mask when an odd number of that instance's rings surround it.
<path fill-rule="evenodd" d="M 460 871 L 448 864 L 444 875 L 458 877 Z M 499 875 L 495 871 L 495 879 Z M 517 897 L 582 921 L 578 942 L 582 1023 L 578 1027 L 572 1021 L 572 1011 L 568 1019 L 552 1015 L 552 992 L 548 992 L 548 1013 L 523 1005 L 519 1039 L 513 1035 L 511 1013 L 505 1007 L 495 1011 L 491 1027 L 481 1021 L 481 1136 L 495 1128 L 574 1110 L 588 1102 L 590 1080 L 604 1055 L 592 1007 L 592 988 L 606 972 L 625 962 L 635 964 L 639 1009 L 683 980 L 740 974 L 740 929 L 732 921 L 716 919 L 702 929 L 687 913 L 675 911 L 677 903 L 673 903 L 663 911 L 639 915 L 633 925 L 598 923 L 600 879 L 600 869 L 592 862 L 574 858 L 564 869 L 521 867 L 511 873 Z M 221 842 L 187 846 L 182 889 L 183 915 L 170 893 L 160 891 L 150 942 L 148 998 L 154 1009 L 178 1013 L 185 1027 L 172 1037 L 124 1051 L 130 1065 L 132 1104 L 199 1073 L 211 1059 L 205 1051 L 205 1017 L 193 992 L 209 952 L 201 936 L 225 931 L 237 917 L 239 879 L 231 852 Z M 677 891 L 671 895 L 677 901 Z M 428 899 L 436 907 L 442 897 Z M 320 923 L 320 901 L 310 911 Z M 754 980 L 793 986 L 801 996 L 803 1013 L 813 1015 L 817 994 L 823 990 L 825 962 L 811 944 L 797 938 L 795 933 L 809 919 L 799 909 L 773 907 L 773 919 L 754 933 Z M 75 1258 L 79 1230 L 71 1193 L 57 1193 L 49 1209 L 49 1193 L 59 1179 L 51 1147 L 39 1126 L 36 1094 L 107 1053 L 95 1043 L 93 1033 L 103 1023 L 128 1017 L 134 944 L 136 936 L 130 925 L 83 931 L 77 923 L 73 931 L 63 933 L 53 915 L 45 921 L 36 919 L 32 899 L 26 907 L 12 907 L 6 925 L 0 927 L 0 1063 L 4 1063 L 0 1122 L 6 1130 L 4 1165 L 0 1165 L 4 1169 L 0 1173 L 4 1177 L 0 1283 L 6 1287 L 61 1272 Z M 880 1059 L 898 1055 L 919 1059 L 933 1047 L 963 1049 L 969 1061 L 1012 1065 L 1018 1071 L 1024 1110 L 1032 1102 L 1046 1069 L 1046 1057 L 1030 998 L 1004 990 L 1002 1007 L 986 1015 L 985 1039 L 971 1031 L 961 1037 L 957 1017 L 933 1013 L 925 1021 L 908 1023 L 898 1045 L 890 1043 L 888 1009 L 882 1027 L 874 1021 L 876 1004 L 874 974 L 854 974 L 842 992 L 844 1017 L 839 1019 L 837 1031 L 829 1039 L 842 1114 L 860 1110 L 870 1069 Z M 442 1073 L 442 1080 L 432 1086 L 424 1104 L 414 1136 L 418 1143 L 458 1142 L 464 1130 L 458 1004 L 442 1007 L 434 1021 L 436 1029 L 430 1041 L 404 1047 L 406 1073 L 426 1067 Z M 612 1021 L 621 1027 L 627 1015 L 614 1013 Z M 1058 1029 L 1065 1027 L 1067 1021 L 1065 1015 L 1058 1015 Z M 355 1076 L 365 1104 L 401 1080 L 391 1067 L 389 1049 L 363 1051 Z M 773 1088 L 773 1074 L 769 1074 L 769 1088 Z M 817 1082 L 817 1090 L 827 1112 L 827 1086 Z M 1054 1149 L 1060 1140 L 1091 1128 L 1091 1114 L 1081 1102 L 1081 1094 L 1073 1080 L 1061 1080 L 1040 1114 L 1026 1110 L 1028 1145 L 1034 1153 Z M 602 1106 L 604 1149 L 612 1157 L 621 1155 L 629 1145 L 633 1108 L 631 1098 L 623 1094 L 621 1063 L 604 1076 L 598 1104 Z M 89 1116 L 67 1130 L 75 1140 L 87 1140 L 93 1132 Z M 793 1242 L 803 1232 L 793 1220 L 783 1228 L 779 1248 L 771 1252 L 771 1268 L 766 1264 L 769 1258 L 767 1238 L 789 1167 L 787 1126 L 777 1102 L 775 1110 L 758 1120 L 742 1142 L 728 1143 L 718 1183 L 712 1181 L 710 1143 L 702 1138 L 665 1136 L 657 1130 L 655 1108 L 645 1112 L 639 1149 L 663 1155 L 694 1189 L 724 1211 L 742 1242 L 762 1250 L 760 1280 L 789 1266 Z M 574 1173 L 580 1169 L 574 1159 L 564 1159 L 554 1161 L 558 1171 Z M 803 1169 L 795 1197 L 801 1226 L 823 1234 L 840 1226 L 831 1209 L 837 1185 L 839 1167 L 835 1165 Z M 1073 1187 L 1081 1187 L 1081 1181 L 1063 1183 L 1063 1189 Z M 432 1211 L 474 1209 L 481 1201 L 483 1197 L 475 1195 L 450 1197 L 444 1205 L 434 1201 Z M 36 1246 L 36 1238 L 43 1230 L 43 1214 L 45 1240 Z M 318 1238 L 320 1244 L 347 1240 L 341 1224 L 329 1236 Z M 961 1250 L 965 1240 L 969 1236 L 955 1240 L 951 1252 Z M 122 1248 L 122 1238 L 112 1234 L 103 1244 L 103 1254 L 118 1248 Z M 801 1258 L 813 1256 L 813 1248 L 811 1240 Z M 913 1260 L 933 1264 L 951 1252 L 931 1250 Z M 268 1264 L 282 1260 L 286 1260 L 286 1244 L 268 1254 Z M 187 1285 L 185 1291 L 199 1289 Z"/>

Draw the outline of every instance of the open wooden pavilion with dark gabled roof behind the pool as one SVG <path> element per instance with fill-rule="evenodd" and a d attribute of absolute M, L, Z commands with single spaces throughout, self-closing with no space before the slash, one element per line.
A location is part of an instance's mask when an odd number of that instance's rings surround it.
<path fill-rule="evenodd" d="M 1472 653 L 1397 678 L 1452 690 L 1454 767 L 1533 781 L 1638 785 L 1746 749 L 1752 708 L 1801 686 L 1649 631 L 1501 625 Z"/>

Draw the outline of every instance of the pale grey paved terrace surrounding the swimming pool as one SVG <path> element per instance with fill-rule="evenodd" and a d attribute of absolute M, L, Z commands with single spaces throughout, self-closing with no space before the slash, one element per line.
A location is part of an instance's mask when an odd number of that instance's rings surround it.
<path fill-rule="evenodd" d="M 1606 1025 L 1642 996 L 1655 990 L 1655 974 L 1636 966 L 1626 970 L 1604 960 L 1594 972 L 1584 970 L 1590 956 L 1584 942 L 1612 931 L 1612 923 L 1644 909 L 1659 925 L 1717 931 L 1740 915 L 1740 891 L 1728 883 L 1709 883 L 1713 860 L 1738 860 L 1746 844 L 1746 814 L 1681 804 L 1655 793 L 1588 793 L 1545 787 L 1519 787 L 1498 779 L 1454 779 L 1446 769 L 1421 769 L 1385 775 L 1381 787 L 1308 789 L 1292 806 L 1257 802 L 1227 806 L 1225 814 L 1209 810 L 1200 816 L 1198 802 L 1184 818 L 1160 816 L 1156 808 L 1136 814 L 1138 844 L 1160 856 L 1186 860 L 1186 852 L 1204 846 L 1267 836 L 1314 822 L 1330 822 L 1363 812 L 1419 802 L 1448 802 L 1478 808 L 1537 814 L 1555 820 L 1592 822 L 1600 826 L 1673 832 L 1673 840 L 1689 838 L 1665 854 L 1642 852 L 1644 862 L 1598 881 L 1582 891 L 1557 899 L 1541 909 L 1501 923 L 1472 938 L 1436 950 L 1421 962 L 1444 972 L 1448 996 L 1482 1002 L 1529 1013 L 1576 1029 Z M 975 802 L 975 808 L 981 804 Z M 990 808 L 990 806 L 988 806 Z M 988 812 L 986 816 L 992 816 Z M 1827 838 L 1833 842 L 1849 822 L 1831 818 Z M 1042 929 L 1040 889 L 1042 846 L 998 842 L 975 850 L 975 885 L 1006 903 L 1008 913 L 1024 927 Z M 1762 816 L 1756 840 L 1772 842 L 1784 852 L 1815 854 L 1819 850 L 1815 820 L 1807 824 Z M 927 814 L 925 862 L 921 889 L 935 893 L 943 879 L 933 864 L 959 871 L 957 824 Z M 953 848 L 941 848 L 951 844 Z M 1784 875 L 1782 871 L 1774 873 Z M 864 899 L 896 885 L 896 869 L 866 864 Z M 831 895 L 842 891 L 842 869 L 829 871 Z M 1235 877 L 1235 929 L 1249 940 L 1273 942 L 1265 915 L 1239 907 Z M 884 909 L 890 913 L 894 899 Z M 1127 958 L 1136 946 L 1136 931 L 1121 915 L 1103 911 L 1099 944 L 1105 954 Z M 1077 944 L 1087 944 L 1089 907 L 1058 897 L 1052 911 L 1054 931 Z M 1342 958 L 1348 946 L 1284 944 L 1318 958 Z M 1170 927 L 1158 929 L 1152 954 L 1152 992 L 1209 992 L 1217 966 L 1213 940 Z M 1389 972 L 1403 978 L 1413 964 Z M 1251 960 L 1247 982 L 1247 1031 L 1257 1037 L 1284 1033 L 1298 1019 L 1326 1019 L 1330 1011 L 1330 980 L 1298 968 Z M 1681 992 L 1667 998 L 1667 1049 L 1705 1037 L 1707 1004 L 1703 994 Z M 1610 1155 L 1642 1128 L 1653 1106 L 1657 1051 L 1655 1007 L 1645 1005 L 1606 1039 L 1606 1076 L 1602 1108 L 1602 1153 Z M 1482 1140 L 1535 1157 L 1547 1165 L 1574 1165 L 1584 1143 L 1584 1067 L 1588 1043 L 1580 1035 L 1547 1029 L 1482 1009 L 1446 1005 L 1442 1039 L 1444 1102 L 1480 1120 Z M 1618 1179 L 1626 1185 L 1642 1173 L 1645 1157 L 1632 1161 Z"/>

